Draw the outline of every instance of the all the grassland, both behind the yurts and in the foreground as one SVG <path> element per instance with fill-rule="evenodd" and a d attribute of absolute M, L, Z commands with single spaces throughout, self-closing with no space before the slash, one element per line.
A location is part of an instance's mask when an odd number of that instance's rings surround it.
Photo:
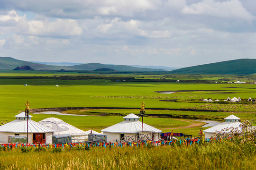
<path fill-rule="evenodd" d="M 123 121 L 123 117 L 129 113 L 139 114 L 141 102 L 145 102 L 146 105 L 144 123 L 159 128 L 163 132 L 173 130 L 174 133 L 194 137 L 198 136 L 201 126 L 205 124 L 200 121 L 201 119 L 223 121 L 223 118 L 231 114 L 241 118 L 242 121 L 256 118 L 256 104 L 246 102 L 249 97 L 256 98 L 256 85 L 227 83 L 238 80 L 255 81 L 249 76 L 54 73 L 0 71 L 0 119 L 2 122 L 14 120 L 18 112 L 25 110 L 27 100 L 30 102 L 31 109 L 73 108 L 64 110 L 63 113 L 82 115 L 65 116 L 31 112 L 32 119 L 35 121 L 55 117 L 82 130 L 93 129 L 98 132 Z M 116 79 L 120 81 L 116 82 Z M 129 81 L 123 81 L 125 79 Z M 165 82 L 165 79 L 181 79 L 189 82 Z M 198 79 L 214 83 L 199 83 Z M 195 80 L 194 83 L 191 82 L 193 80 Z M 218 83 L 215 84 L 217 80 Z M 175 93 L 163 94 L 156 91 L 175 91 Z M 228 97 L 240 97 L 244 101 L 241 103 L 201 101 L 205 98 L 224 100 Z M 174 102 L 174 100 L 177 101 Z M 75 109 L 76 107 L 89 109 L 78 110 Z M 93 109 L 93 107 L 101 109 Z M 202 130 L 206 128 L 208 127 L 203 127 Z M 19 147 L 7 150 L 0 147 L 0 169 L 256 169 L 254 145 L 227 141 L 188 146 L 173 144 L 166 147 L 164 145 L 112 147 L 111 149 L 93 147 L 90 150 L 65 148 L 56 150 L 57 152 L 52 148 L 46 148 L 45 151 L 40 152 L 37 152 L 34 147 L 31 148 L 29 153 L 22 153 Z"/>

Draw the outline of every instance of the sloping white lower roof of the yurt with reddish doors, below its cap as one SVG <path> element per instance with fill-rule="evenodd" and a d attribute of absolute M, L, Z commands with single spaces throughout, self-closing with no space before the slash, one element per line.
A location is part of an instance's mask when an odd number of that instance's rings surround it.
<path fill-rule="evenodd" d="M 27 120 L 13 120 L 0 126 L 0 132 L 27 133 Z M 49 133 L 53 129 L 45 127 L 34 120 L 28 120 L 28 133 Z"/>

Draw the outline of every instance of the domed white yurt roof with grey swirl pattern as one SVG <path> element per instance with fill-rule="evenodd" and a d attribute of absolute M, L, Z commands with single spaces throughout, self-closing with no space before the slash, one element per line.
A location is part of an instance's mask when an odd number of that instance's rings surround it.
<path fill-rule="evenodd" d="M 61 119 L 47 118 L 38 123 L 53 129 L 55 131 L 54 135 L 86 135 L 85 131 L 74 127 Z"/>

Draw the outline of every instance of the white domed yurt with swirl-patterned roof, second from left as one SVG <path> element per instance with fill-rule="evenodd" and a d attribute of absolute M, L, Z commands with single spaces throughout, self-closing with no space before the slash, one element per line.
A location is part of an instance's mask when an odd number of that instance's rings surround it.
<path fill-rule="evenodd" d="M 58 118 L 47 118 L 38 122 L 41 125 L 44 125 L 50 129 L 54 130 L 54 135 L 70 135 L 72 142 L 84 142 L 88 140 L 88 134 L 85 131 L 74 127 L 61 119 Z"/>

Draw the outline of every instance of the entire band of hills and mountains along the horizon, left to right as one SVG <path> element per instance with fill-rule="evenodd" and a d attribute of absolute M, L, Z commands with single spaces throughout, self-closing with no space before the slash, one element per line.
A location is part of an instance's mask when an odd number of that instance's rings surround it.
<path fill-rule="evenodd" d="M 48 65 L 57 64 L 57 65 Z M 66 66 L 60 66 L 66 65 Z M 69 65 L 69 66 L 68 66 Z M 100 63 L 47 63 L 43 62 L 28 62 L 11 57 L 0 57 L 0 69 L 12 70 L 17 67 L 28 66 L 35 70 L 97 70 L 97 71 L 165 71 L 174 69 L 161 66 L 126 66 L 126 65 L 111 65 Z M 145 67 L 145 68 L 142 68 Z M 149 68 L 146 68 L 149 67 Z M 160 69 L 161 68 L 161 69 Z M 17 68 L 18 69 L 18 68 Z M 24 69 L 24 68 L 21 68 Z M 235 59 L 222 61 L 211 64 L 203 64 L 187 68 L 179 68 L 168 71 L 171 74 L 236 74 L 249 75 L 256 73 L 256 59 Z"/>

